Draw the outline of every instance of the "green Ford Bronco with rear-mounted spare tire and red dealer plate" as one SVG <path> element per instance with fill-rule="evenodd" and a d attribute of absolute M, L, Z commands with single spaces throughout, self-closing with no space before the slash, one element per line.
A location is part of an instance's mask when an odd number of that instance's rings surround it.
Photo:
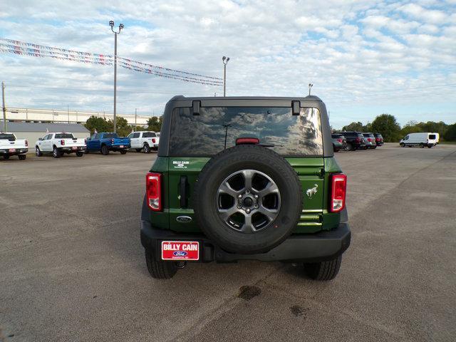
<path fill-rule="evenodd" d="M 284 261 L 331 280 L 351 239 L 345 204 L 316 96 L 175 96 L 146 175 L 147 269 L 169 279 L 187 262 Z"/>

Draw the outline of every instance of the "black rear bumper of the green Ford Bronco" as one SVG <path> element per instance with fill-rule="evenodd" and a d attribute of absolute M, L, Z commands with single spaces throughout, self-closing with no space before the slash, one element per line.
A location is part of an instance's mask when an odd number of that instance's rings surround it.
<path fill-rule="evenodd" d="M 163 240 L 197 241 L 200 245 L 199 261 L 233 262 L 237 260 L 259 261 L 304 261 L 317 262 L 331 260 L 346 251 L 350 246 L 351 232 L 348 222 L 343 222 L 331 231 L 316 234 L 294 234 L 279 246 L 261 254 L 229 253 L 211 242 L 204 234 L 177 233 L 171 230 L 156 229 L 147 221 L 141 221 L 141 244 L 161 258 Z"/>

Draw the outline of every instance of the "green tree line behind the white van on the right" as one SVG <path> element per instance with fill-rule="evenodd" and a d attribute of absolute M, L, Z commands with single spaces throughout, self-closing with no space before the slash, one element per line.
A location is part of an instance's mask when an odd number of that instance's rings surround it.
<path fill-rule="evenodd" d="M 395 116 L 390 114 L 378 115 L 372 123 L 367 123 L 366 125 L 363 125 L 359 121 L 356 123 L 353 122 L 343 126 L 342 130 L 380 133 L 383 135 L 385 142 L 398 142 L 405 135 L 420 132 L 439 133 L 440 140 L 456 141 L 456 123 L 447 125 L 443 121 L 438 123 L 434 121 L 427 121 L 427 123 L 409 121 L 401 128 Z"/>

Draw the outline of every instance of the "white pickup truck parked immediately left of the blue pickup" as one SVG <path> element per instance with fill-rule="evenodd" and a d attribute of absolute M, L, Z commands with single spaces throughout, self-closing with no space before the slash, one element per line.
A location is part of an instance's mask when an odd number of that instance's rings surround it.
<path fill-rule="evenodd" d="M 86 151 L 86 139 L 74 138 L 73 133 L 48 133 L 36 141 L 35 151 L 37 157 L 48 152 L 51 152 L 54 158 L 73 152 L 82 157 Z"/>

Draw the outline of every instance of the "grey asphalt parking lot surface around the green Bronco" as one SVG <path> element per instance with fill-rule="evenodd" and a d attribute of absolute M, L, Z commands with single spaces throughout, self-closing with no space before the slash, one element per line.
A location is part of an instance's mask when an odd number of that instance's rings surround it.
<path fill-rule="evenodd" d="M 257 261 L 150 278 L 154 153 L 0 160 L 0 341 L 455 341 L 456 145 L 336 157 L 353 237 L 329 282 Z"/>

